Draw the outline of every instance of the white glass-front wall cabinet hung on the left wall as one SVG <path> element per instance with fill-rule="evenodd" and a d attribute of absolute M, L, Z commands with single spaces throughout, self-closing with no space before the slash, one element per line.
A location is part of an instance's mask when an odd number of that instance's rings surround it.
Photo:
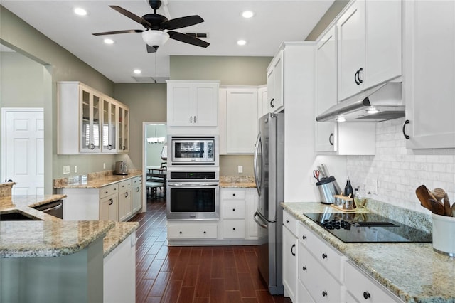
<path fill-rule="evenodd" d="M 119 127 L 122 137 L 129 134 L 128 119 L 117 121 L 119 107 L 128 111 L 126 105 L 75 81 L 58 83 L 57 100 L 57 154 L 119 152 Z"/>

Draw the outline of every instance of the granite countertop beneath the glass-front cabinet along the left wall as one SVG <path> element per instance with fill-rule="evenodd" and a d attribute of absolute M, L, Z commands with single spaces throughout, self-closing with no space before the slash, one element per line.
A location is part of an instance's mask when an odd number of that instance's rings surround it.
<path fill-rule="evenodd" d="M 114 175 L 112 171 L 75 176 L 72 178 L 54 179 L 54 188 L 101 188 L 120 181 L 142 176 L 140 170 L 130 170 L 127 175 Z"/>

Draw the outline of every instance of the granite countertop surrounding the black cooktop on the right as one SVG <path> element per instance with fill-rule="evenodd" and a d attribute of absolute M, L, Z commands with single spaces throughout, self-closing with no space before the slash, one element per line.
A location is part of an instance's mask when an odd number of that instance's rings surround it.
<path fill-rule="evenodd" d="M 341 211 L 321 203 L 281 205 L 403 301 L 455 301 L 455 259 L 435 252 L 432 243 L 343 243 L 304 216 Z"/>

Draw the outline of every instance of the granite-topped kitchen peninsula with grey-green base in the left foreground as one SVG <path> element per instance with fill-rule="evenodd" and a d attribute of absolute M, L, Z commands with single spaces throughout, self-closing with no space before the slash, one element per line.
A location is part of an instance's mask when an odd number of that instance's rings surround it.
<path fill-rule="evenodd" d="M 0 222 L 0 301 L 134 302 L 139 223 L 65 221 L 32 208 L 65 197 L 0 198 L 2 215 L 31 219 Z"/>

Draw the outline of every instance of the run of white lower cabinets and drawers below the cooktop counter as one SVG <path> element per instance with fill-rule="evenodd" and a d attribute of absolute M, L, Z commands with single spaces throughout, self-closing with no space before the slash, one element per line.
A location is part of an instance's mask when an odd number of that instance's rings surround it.
<path fill-rule="evenodd" d="M 292 302 L 402 302 L 285 210 L 283 225 L 284 296 Z"/>

